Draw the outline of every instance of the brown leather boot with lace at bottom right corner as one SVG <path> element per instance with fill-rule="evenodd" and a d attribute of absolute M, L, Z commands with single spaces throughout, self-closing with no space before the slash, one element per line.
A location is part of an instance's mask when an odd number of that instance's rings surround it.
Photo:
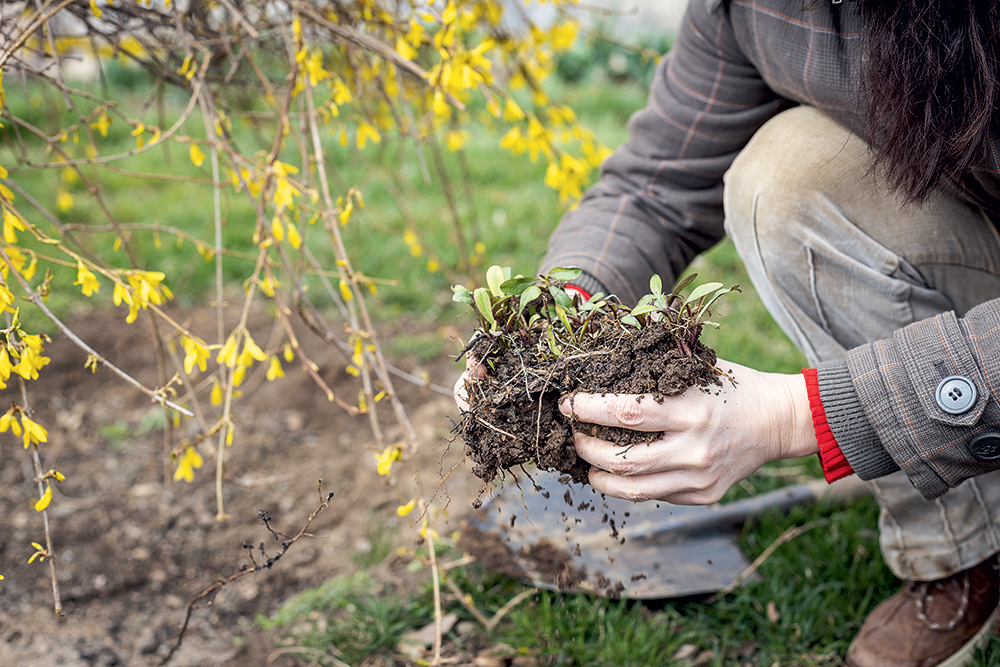
<path fill-rule="evenodd" d="M 997 557 L 937 581 L 908 581 L 865 619 L 849 667 L 960 667 L 1000 616 Z"/>

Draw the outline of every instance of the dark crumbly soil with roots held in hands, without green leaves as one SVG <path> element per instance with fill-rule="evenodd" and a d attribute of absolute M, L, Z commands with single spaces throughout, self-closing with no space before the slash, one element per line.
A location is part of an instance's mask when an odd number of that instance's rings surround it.
<path fill-rule="evenodd" d="M 541 307 L 550 307 L 543 292 Z M 651 442 L 659 433 L 577 422 L 559 411 L 576 393 L 649 394 L 662 401 L 689 387 L 720 384 L 716 355 L 698 340 L 700 324 L 684 330 L 662 322 L 641 328 L 622 324 L 627 309 L 610 308 L 591 317 L 588 333 L 573 349 L 552 354 L 544 326 L 514 334 L 481 334 L 468 349 L 486 375 L 466 382 L 469 411 L 458 424 L 473 473 L 490 482 L 535 463 L 587 483 L 590 464 L 573 448 L 573 428 L 623 447 Z"/>

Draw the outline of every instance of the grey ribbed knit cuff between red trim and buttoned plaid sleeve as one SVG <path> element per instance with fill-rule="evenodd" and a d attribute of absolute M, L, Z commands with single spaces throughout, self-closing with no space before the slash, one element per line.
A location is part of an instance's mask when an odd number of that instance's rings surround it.
<path fill-rule="evenodd" d="M 816 376 L 830 431 L 858 477 L 867 481 L 899 470 L 865 415 L 847 362 L 841 359 L 820 364 Z"/>

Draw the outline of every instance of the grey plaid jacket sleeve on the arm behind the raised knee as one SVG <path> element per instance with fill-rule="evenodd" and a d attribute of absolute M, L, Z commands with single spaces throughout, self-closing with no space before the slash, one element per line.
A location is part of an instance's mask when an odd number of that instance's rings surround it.
<path fill-rule="evenodd" d="M 740 50 L 718 0 L 691 0 L 647 107 L 599 182 L 560 222 L 542 270 L 574 266 L 631 304 L 659 274 L 671 285 L 722 238 L 722 176 L 769 118 L 791 105 Z"/>

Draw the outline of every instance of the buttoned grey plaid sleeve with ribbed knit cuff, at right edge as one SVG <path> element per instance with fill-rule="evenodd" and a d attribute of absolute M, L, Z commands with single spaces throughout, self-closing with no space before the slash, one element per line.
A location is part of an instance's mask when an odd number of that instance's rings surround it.
<path fill-rule="evenodd" d="M 1000 298 L 821 365 L 830 427 L 863 479 L 901 469 L 930 499 L 1000 469 Z"/>

